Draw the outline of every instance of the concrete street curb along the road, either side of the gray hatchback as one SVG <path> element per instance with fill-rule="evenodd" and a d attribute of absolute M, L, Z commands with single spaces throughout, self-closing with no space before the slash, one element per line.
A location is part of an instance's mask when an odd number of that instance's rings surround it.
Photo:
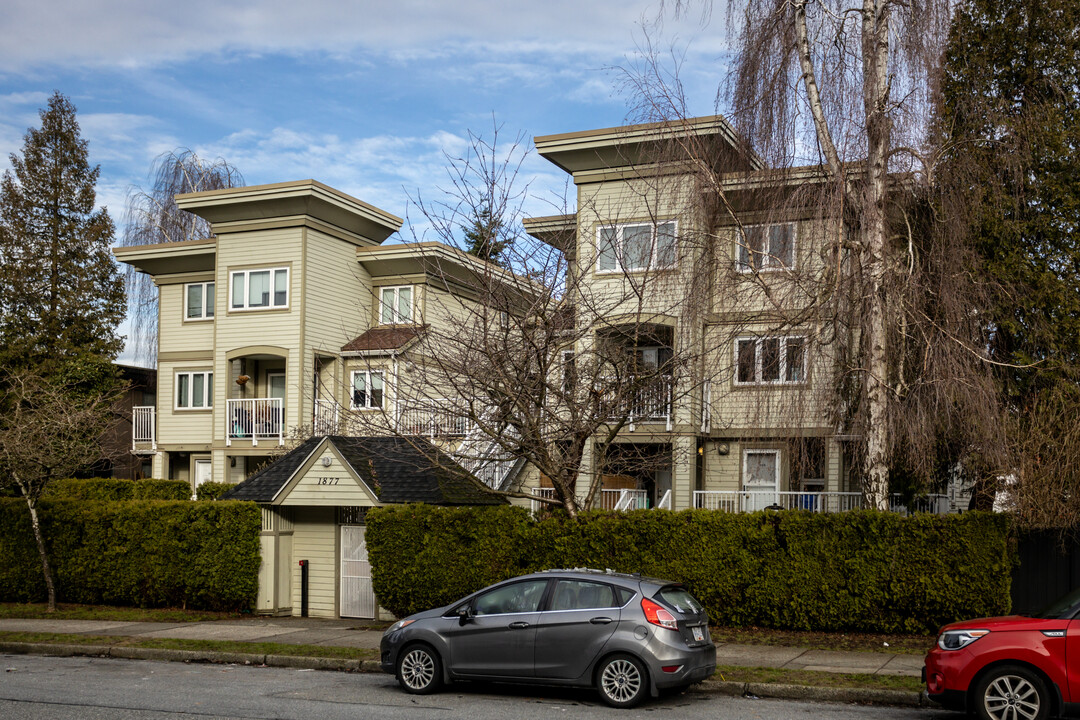
<path fill-rule="evenodd" d="M 257 653 L 220 652 L 216 650 L 167 650 L 163 648 L 126 648 L 119 646 L 53 644 L 48 642 L 0 642 L 0 653 L 13 655 L 48 655 L 53 657 L 116 657 L 123 660 L 156 660 L 174 663 L 232 663 L 297 670 L 335 670 L 338 673 L 381 673 L 373 660 L 308 657 L 302 655 L 260 655 Z M 731 682 L 705 680 L 696 692 L 733 697 L 769 697 L 802 699 L 821 703 L 860 703 L 906 707 L 933 706 L 924 693 L 905 690 L 861 688 L 814 688 L 774 682 Z"/>

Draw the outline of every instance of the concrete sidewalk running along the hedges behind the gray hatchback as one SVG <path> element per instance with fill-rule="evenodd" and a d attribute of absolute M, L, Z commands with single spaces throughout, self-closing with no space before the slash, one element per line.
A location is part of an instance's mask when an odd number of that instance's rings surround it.
<path fill-rule="evenodd" d="M 134 623 L 97 620 L 0 620 L 0 633 L 56 633 L 131 638 L 175 638 L 233 642 L 366 648 L 376 650 L 381 629 L 355 620 L 252 617 L 197 623 Z M 886 652 L 811 650 L 777 646 L 719 643 L 717 665 L 789 670 L 919 677 L 922 655 Z"/>

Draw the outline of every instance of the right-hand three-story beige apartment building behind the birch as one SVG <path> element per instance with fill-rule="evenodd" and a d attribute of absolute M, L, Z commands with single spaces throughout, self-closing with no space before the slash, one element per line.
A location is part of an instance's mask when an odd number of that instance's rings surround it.
<path fill-rule="evenodd" d="M 577 190 L 573 215 L 525 222 L 572 258 L 568 353 L 623 322 L 627 352 L 670 368 L 618 439 L 586 448 L 579 487 L 598 475 L 675 510 L 861 506 L 812 312 L 826 233 L 842 231 L 799 198 L 820 173 L 769 172 L 719 117 L 535 141 Z"/>

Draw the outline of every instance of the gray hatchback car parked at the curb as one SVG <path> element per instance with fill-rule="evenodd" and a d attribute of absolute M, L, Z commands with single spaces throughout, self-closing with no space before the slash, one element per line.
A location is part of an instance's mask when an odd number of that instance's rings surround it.
<path fill-rule="evenodd" d="M 454 680 L 595 687 L 615 707 L 716 669 L 708 615 L 678 584 L 600 570 L 548 570 L 394 623 L 381 665 L 409 693 Z"/>

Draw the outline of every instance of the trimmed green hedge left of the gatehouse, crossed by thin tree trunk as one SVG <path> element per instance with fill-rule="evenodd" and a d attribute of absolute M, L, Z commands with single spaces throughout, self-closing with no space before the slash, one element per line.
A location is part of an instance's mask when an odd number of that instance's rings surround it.
<path fill-rule="evenodd" d="M 38 516 L 62 601 L 202 610 L 255 603 L 260 516 L 254 503 L 43 499 Z M 0 600 L 44 600 L 22 500 L 0 500 Z"/>

